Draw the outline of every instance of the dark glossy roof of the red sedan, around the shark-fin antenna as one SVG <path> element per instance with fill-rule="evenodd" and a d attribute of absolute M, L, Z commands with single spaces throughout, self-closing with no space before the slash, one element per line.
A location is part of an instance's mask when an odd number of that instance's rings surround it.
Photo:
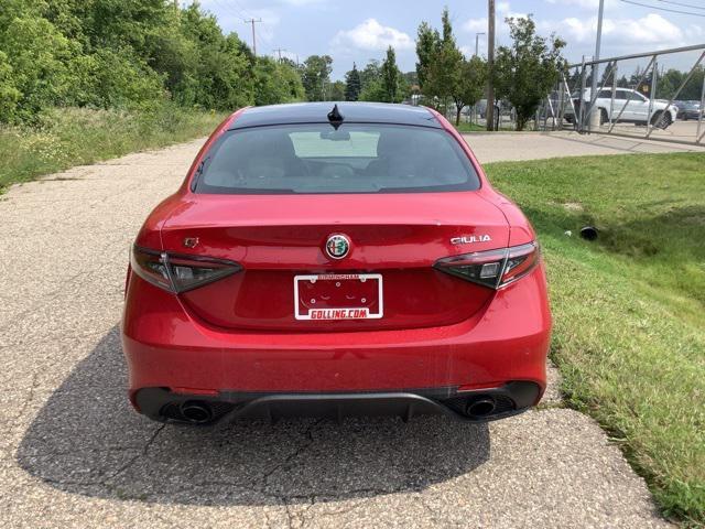
<path fill-rule="evenodd" d="M 295 102 L 246 109 L 229 130 L 265 125 L 327 123 L 328 112 L 337 105 L 344 123 L 394 123 L 442 128 L 425 107 L 384 102 Z"/>

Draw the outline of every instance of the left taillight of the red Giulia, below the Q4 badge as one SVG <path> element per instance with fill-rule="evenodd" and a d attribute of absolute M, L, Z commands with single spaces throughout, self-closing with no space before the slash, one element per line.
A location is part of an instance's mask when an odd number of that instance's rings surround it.
<path fill-rule="evenodd" d="M 132 271 L 169 292 L 180 293 L 213 283 L 242 270 L 234 261 L 200 256 L 184 256 L 166 251 L 132 247 Z"/>

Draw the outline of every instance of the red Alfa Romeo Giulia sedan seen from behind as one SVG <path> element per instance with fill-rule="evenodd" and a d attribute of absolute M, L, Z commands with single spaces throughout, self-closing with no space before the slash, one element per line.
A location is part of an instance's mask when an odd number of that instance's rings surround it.
<path fill-rule="evenodd" d="M 536 236 L 423 107 L 247 108 L 132 248 L 130 400 L 159 421 L 445 413 L 545 388 Z"/>

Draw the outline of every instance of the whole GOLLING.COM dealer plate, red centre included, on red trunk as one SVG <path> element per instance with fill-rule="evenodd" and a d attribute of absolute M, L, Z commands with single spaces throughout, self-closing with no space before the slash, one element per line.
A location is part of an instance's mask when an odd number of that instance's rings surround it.
<path fill-rule="evenodd" d="M 382 276 L 323 273 L 294 277 L 296 320 L 373 320 L 382 317 Z"/>

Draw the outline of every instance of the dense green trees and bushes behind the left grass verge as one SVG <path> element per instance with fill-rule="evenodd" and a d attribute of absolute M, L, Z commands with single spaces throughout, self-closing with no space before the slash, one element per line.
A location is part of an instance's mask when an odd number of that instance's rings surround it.
<path fill-rule="evenodd" d="M 32 123 L 52 106 L 232 110 L 303 97 L 297 67 L 257 61 L 197 1 L 182 3 L 0 0 L 0 122 Z"/>

